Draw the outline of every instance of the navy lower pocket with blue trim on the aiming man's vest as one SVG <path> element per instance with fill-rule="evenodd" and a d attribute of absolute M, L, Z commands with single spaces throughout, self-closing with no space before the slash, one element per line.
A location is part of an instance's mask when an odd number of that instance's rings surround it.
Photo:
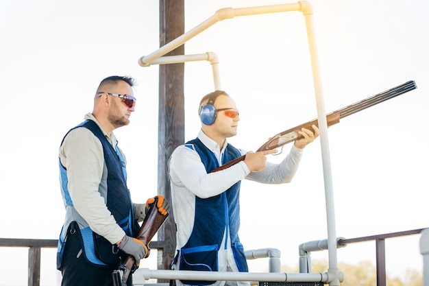
<path fill-rule="evenodd" d="M 180 250 L 180 270 L 218 271 L 217 245 L 196 246 Z M 188 285 L 210 285 L 216 281 L 181 280 Z"/>

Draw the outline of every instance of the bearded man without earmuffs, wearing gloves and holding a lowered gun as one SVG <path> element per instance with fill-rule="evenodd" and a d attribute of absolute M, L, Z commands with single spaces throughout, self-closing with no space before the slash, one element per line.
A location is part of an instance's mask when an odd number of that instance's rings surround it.
<path fill-rule="evenodd" d="M 62 139 L 58 165 L 65 219 L 57 252 L 62 286 L 112 285 L 112 272 L 129 255 L 136 265 L 149 255 L 135 237 L 154 199 L 132 202 L 125 155 L 113 134 L 130 123 L 136 104 L 133 86 L 130 77 L 102 80 L 93 112 Z M 162 200 L 157 207 L 166 212 L 169 204 Z M 132 285 L 131 275 L 127 285 Z"/>

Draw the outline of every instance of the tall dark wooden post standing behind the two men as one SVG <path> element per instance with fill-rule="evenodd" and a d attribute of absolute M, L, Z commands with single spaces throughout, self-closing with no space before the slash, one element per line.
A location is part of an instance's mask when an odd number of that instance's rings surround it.
<path fill-rule="evenodd" d="M 160 0 L 160 47 L 182 34 L 184 0 Z M 183 54 L 184 45 L 166 56 Z M 184 63 L 161 64 L 159 72 L 158 192 L 171 204 L 167 164 L 175 147 L 184 143 Z M 158 231 L 158 241 L 164 241 L 163 250 L 158 251 L 158 269 L 169 270 L 175 251 L 175 222 L 172 211 Z"/>

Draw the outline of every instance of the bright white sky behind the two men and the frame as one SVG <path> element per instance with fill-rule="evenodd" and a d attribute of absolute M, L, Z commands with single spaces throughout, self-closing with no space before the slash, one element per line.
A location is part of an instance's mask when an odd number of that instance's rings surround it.
<path fill-rule="evenodd" d="M 221 8 L 276 3 L 289 2 L 186 0 L 185 32 Z M 408 80 L 417 84 L 415 91 L 328 130 L 336 236 L 427 227 L 428 2 L 310 3 L 326 112 Z M 108 75 L 138 80 L 132 123 L 115 132 L 127 155 L 132 198 L 145 202 L 158 193 L 158 67 L 137 63 L 159 47 L 158 15 L 158 1 L 0 0 L 0 237 L 58 238 L 64 217 L 58 147 L 65 132 L 92 110 L 95 89 Z M 219 56 L 222 88 L 241 110 L 238 136 L 230 141 L 236 147 L 256 150 L 269 136 L 317 117 L 299 12 L 221 21 L 189 40 L 185 51 Z M 185 76 L 189 140 L 199 130 L 199 99 L 213 88 L 210 64 L 187 63 Z M 327 237 L 320 141 L 306 147 L 293 182 L 243 182 L 241 200 L 245 248 L 278 248 L 282 264 L 295 267 L 299 244 Z M 392 276 L 407 268 L 421 270 L 418 235 L 388 239 L 386 250 Z M 55 254 L 42 251 L 42 285 L 55 283 Z M 373 242 L 355 243 L 337 254 L 339 262 L 375 265 Z M 7 258 L 0 285 L 26 285 L 27 250 L 3 248 L 0 255 Z M 156 267 L 154 259 L 153 254 L 147 267 Z M 328 260 L 328 252 L 313 252 L 312 259 Z M 11 269 L 10 261 L 19 261 L 19 269 Z M 249 265 L 252 272 L 267 269 L 263 259 Z"/>

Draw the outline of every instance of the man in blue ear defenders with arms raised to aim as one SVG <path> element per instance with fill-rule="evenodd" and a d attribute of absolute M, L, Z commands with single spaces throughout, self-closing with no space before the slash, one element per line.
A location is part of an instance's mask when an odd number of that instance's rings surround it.
<path fill-rule="evenodd" d="M 243 246 L 238 238 L 239 195 L 243 179 L 266 184 L 291 182 L 303 148 L 319 136 L 303 128 L 280 164 L 267 162 L 268 154 L 245 152 L 228 143 L 237 134 L 238 109 L 225 91 L 209 93 L 199 105 L 201 130 L 196 139 L 177 147 L 169 160 L 173 215 L 177 225 L 174 270 L 247 272 Z M 242 160 L 221 171 L 210 171 L 242 155 Z M 226 281 L 227 285 L 249 285 Z M 177 280 L 177 285 L 222 286 L 225 281 Z"/>

